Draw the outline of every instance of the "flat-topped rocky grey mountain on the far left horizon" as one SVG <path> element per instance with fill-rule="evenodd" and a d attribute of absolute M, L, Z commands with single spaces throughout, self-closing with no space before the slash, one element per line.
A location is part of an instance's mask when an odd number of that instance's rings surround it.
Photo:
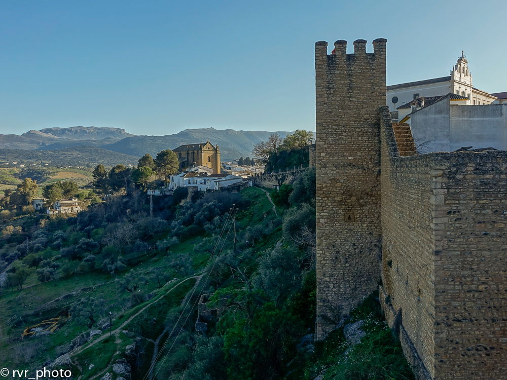
<path fill-rule="evenodd" d="M 87 145 L 95 141 L 113 143 L 125 137 L 135 136 L 121 128 L 105 127 L 70 127 L 70 128 L 44 128 L 39 131 L 31 130 L 22 135 L 0 135 L 0 148 L 5 149 L 38 149 L 46 148 L 55 143 L 52 148 L 66 148 L 65 142 L 84 141 Z M 59 146 L 59 147 L 57 147 Z"/>

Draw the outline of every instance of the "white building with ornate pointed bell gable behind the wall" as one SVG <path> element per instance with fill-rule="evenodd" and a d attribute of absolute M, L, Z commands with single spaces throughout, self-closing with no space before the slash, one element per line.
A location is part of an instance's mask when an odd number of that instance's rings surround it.
<path fill-rule="evenodd" d="M 466 97 L 466 105 L 491 104 L 497 99 L 493 94 L 473 87 L 468 61 L 461 52 L 461 57 L 458 58 L 448 77 L 387 86 L 387 105 L 393 112 L 416 98 L 444 96 L 448 93 Z"/>

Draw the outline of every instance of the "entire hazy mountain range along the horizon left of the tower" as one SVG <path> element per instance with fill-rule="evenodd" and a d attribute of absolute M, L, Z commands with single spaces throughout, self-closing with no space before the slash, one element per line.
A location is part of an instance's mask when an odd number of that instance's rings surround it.
<path fill-rule="evenodd" d="M 20 156 L 20 150 L 45 150 L 44 155 L 31 153 L 27 157 L 44 157 L 49 160 L 51 151 L 65 150 L 66 154 L 79 156 L 79 152 L 93 156 L 92 147 L 100 156 L 104 151 L 111 151 L 128 155 L 129 162 L 133 157 L 140 157 L 145 153 L 155 156 L 164 149 L 174 149 L 182 144 L 193 144 L 206 142 L 208 139 L 213 145 L 219 145 L 222 161 L 231 161 L 239 157 L 251 156 L 254 144 L 267 140 L 275 132 L 268 131 L 236 131 L 233 129 L 218 130 L 214 128 L 185 129 L 181 132 L 164 136 L 144 136 L 127 133 L 121 128 L 107 127 L 69 127 L 69 128 L 44 128 L 41 130 L 30 130 L 21 135 L 0 134 L 0 160 L 7 156 Z M 284 138 L 291 132 L 276 132 Z M 87 147 L 88 149 L 78 149 Z M 16 150 L 14 152 L 13 150 Z M 61 157 L 62 152 L 55 153 Z M 22 156 L 22 155 L 21 155 Z M 66 155 L 65 155 L 66 156 Z M 113 155 L 114 156 L 114 155 Z M 114 156 L 116 159 L 126 159 L 126 156 Z M 113 157 L 112 157 L 113 158 Z M 93 157 L 81 157 L 80 162 L 95 162 Z"/>

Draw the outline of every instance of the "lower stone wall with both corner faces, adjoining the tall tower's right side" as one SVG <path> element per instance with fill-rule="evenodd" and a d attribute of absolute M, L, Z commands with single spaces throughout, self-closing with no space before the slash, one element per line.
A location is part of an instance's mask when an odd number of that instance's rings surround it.
<path fill-rule="evenodd" d="M 507 152 L 400 157 L 381 116 L 386 320 L 418 378 L 507 378 Z"/>

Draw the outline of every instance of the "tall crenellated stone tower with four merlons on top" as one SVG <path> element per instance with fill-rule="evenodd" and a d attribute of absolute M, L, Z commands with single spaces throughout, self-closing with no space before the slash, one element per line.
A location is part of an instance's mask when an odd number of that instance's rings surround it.
<path fill-rule="evenodd" d="M 380 280 L 379 107 L 386 42 L 315 44 L 317 322 L 323 339 Z"/>

